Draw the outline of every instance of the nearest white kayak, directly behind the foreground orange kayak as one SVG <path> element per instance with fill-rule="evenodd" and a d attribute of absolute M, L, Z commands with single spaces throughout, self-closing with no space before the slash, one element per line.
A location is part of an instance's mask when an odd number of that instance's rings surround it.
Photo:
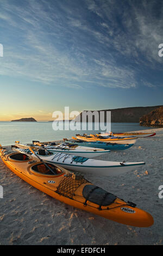
<path fill-rule="evenodd" d="M 112 162 L 89 159 L 86 157 L 68 155 L 64 153 L 46 153 L 47 150 L 44 150 L 44 153 L 43 151 L 39 152 L 37 150 L 33 150 L 34 154 L 32 151 L 30 151 L 30 149 L 15 148 L 14 150 L 31 156 L 33 159 L 40 157 L 41 160 L 58 164 L 58 166 L 64 167 L 68 170 L 102 176 L 124 174 L 145 164 L 145 162 Z"/>

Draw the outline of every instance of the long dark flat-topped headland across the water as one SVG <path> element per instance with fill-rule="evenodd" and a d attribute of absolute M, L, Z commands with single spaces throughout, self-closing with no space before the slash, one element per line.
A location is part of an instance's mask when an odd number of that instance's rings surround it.
<path fill-rule="evenodd" d="M 142 115 L 148 114 L 149 112 L 153 111 L 155 108 L 158 107 L 160 106 L 127 107 L 117 109 L 105 109 L 101 111 L 104 111 L 104 121 L 106 121 L 106 111 L 111 111 L 111 123 L 139 123 L 139 119 L 140 117 L 142 117 Z M 77 121 L 82 121 L 82 113 L 80 113 L 80 115 L 78 115 L 78 117 L 76 118 Z"/>

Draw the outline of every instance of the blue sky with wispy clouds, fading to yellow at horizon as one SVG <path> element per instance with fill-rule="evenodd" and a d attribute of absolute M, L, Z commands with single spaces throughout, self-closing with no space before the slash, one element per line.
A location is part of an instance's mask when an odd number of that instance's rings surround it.
<path fill-rule="evenodd" d="M 0 6 L 1 121 L 53 120 L 65 106 L 81 112 L 163 105 L 161 0 Z"/>

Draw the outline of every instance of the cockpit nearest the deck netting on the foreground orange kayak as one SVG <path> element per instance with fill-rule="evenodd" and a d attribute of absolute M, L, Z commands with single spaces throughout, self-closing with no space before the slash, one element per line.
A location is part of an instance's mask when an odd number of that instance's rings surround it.
<path fill-rule="evenodd" d="M 44 163 L 34 164 L 34 166 L 30 167 L 30 171 L 34 174 L 41 174 L 41 175 L 47 175 L 47 176 L 61 175 L 64 173 L 64 171 L 61 168 L 54 166 L 54 164 L 49 164 L 49 163 L 46 163 L 46 165 Z"/>

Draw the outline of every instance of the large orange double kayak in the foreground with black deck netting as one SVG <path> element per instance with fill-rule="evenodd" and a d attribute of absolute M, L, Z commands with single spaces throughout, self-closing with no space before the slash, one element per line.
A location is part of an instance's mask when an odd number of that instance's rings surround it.
<path fill-rule="evenodd" d="M 26 152 L 27 149 L 19 150 Z M 61 202 L 134 227 L 150 227 L 154 222 L 148 212 L 136 208 L 134 203 L 125 202 L 93 185 L 82 175 L 68 172 L 54 162 L 49 163 L 49 157 L 40 162 L 32 155 L 8 151 L 2 147 L 0 156 L 4 164 L 17 176 Z"/>

